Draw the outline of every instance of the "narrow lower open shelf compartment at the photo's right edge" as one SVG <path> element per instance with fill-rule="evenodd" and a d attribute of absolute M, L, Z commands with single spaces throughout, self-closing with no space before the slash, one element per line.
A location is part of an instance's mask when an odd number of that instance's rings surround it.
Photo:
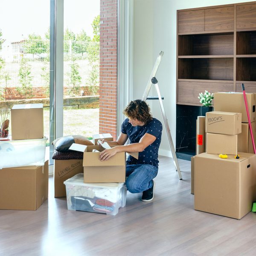
<path fill-rule="evenodd" d="M 256 58 L 236 58 L 236 80 L 256 81 Z"/>

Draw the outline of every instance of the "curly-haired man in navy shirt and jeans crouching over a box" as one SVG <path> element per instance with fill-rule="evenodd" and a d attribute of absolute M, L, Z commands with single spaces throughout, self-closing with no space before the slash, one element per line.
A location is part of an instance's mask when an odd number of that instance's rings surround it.
<path fill-rule="evenodd" d="M 131 101 L 123 113 L 128 118 L 122 123 L 121 134 L 117 141 L 108 142 L 117 146 L 102 151 L 99 159 L 108 160 L 117 152 L 139 152 L 138 160 L 129 156 L 126 161 L 125 184 L 131 193 L 143 192 L 142 201 L 151 201 L 154 198 L 153 179 L 158 172 L 158 149 L 163 126 L 152 117 L 147 103 L 140 99 Z M 125 145 L 128 139 L 131 144 Z"/>

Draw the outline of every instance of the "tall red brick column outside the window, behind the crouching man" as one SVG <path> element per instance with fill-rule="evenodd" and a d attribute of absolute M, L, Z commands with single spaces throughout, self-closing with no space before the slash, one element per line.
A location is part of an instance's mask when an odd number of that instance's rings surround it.
<path fill-rule="evenodd" d="M 116 140 L 117 0 L 100 1 L 99 133 Z"/>

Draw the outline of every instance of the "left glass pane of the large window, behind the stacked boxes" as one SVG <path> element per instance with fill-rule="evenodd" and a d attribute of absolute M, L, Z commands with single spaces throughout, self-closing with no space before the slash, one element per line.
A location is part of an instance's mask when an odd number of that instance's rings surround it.
<path fill-rule="evenodd" d="M 48 138 L 49 26 L 50 6 L 45 0 L 1 2 L 0 108 L 43 103 L 44 135 Z"/>

